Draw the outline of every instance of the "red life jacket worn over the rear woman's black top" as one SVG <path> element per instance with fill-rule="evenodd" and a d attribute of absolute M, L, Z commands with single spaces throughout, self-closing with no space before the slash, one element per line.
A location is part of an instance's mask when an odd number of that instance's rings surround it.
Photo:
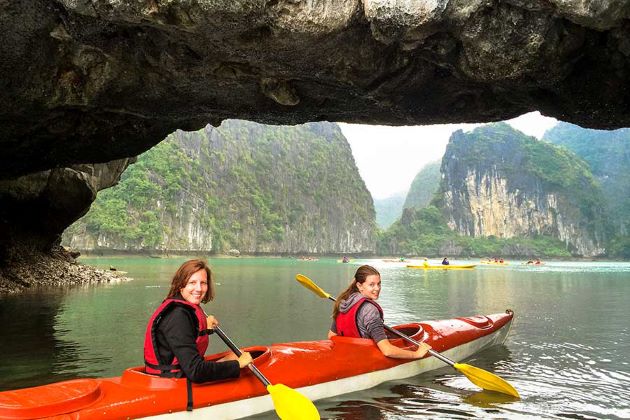
<path fill-rule="evenodd" d="M 166 313 L 172 305 L 183 305 L 195 313 L 199 328 L 196 340 L 197 350 L 199 350 L 199 354 L 203 357 L 208 349 L 208 324 L 206 314 L 203 312 L 203 309 L 201 309 L 199 305 L 194 305 L 186 300 L 165 299 L 160 307 L 155 310 L 147 325 L 147 331 L 144 335 L 144 365 L 147 373 L 169 378 L 181 378 L 184 376 L 184 373 L 182 372 L 177 357 L 174 357 L 173 360 L 170 361 L 170 364 L 169 361 L 166 361 L 166 364 L 160 363 L 157 354 L 157 341 L 155 338 L 155 333 L 157 331 L 158 324 L 162 319 L 162 315 Z"/>

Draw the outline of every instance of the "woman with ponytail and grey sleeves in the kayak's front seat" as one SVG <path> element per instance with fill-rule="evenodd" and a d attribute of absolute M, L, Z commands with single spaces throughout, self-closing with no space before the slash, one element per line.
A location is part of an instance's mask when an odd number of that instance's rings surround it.
<path fill-rule="evenodd" d="M 404 350 L 389 342 L 385 335 L 383 310 L 376 303 L 381 293 L 381 274 L 372 266 L 362 265 L 352 283 L 344 290 L 333 309 L 333 323 L 328 338 L 335 335 L 371 338 L 381 352 L 396 359 L 419 359 L 431 348 L 421 343 L 417 350 Z"/>

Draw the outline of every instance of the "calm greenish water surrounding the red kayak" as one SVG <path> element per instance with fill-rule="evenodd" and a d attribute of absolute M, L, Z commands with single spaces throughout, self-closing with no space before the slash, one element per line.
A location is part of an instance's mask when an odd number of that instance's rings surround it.
<path fill-rule="evenodd" d="M 0 390 L 117 376 L 142 364 L 146 322 L 184 259 L 81 261 L 114 265 L 134 280 L 0 298 Z M 336 295 L 356 263 L 363 262 L 381 271 L 379 302 L 389 324 L 515 311 L 505 346 L 467 363 L 508 380 L 520 392 L 520 401 L 480 392 L 464 376 L 444 368 L 318 401 L 322 417 L 630 418 L 630 263 L 529 267 L 518 262 L 424 272 L 381 260 L 210 262 L 217 299 L 206 311 L 240 346 L 324 338 L 331 302 L 300 286 L 295 274 L 309 276 Z M 215 339 L 208 352 L 224 350 Z"/>

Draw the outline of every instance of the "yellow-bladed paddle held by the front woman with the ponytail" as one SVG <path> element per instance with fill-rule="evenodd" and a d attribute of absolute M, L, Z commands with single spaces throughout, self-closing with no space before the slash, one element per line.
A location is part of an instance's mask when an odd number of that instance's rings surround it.
<path fill-rule="evenodd" d="M 324 290 L 322 290 L 322 288 L 316 285 L 311 279 L 309 279 L 305 275 L 298 274 L 295 276 L 295 279 L 298 282 L 300 282 L 302 286 L 311 290 L 317 296 L 324 299 L 330 299 L 333 302 L 337 301 L 337 299 L 332 297 L 330 293 L 326 293 Z M 393 334 L 396 334 L 397 336 L 409 341 L 410 343 L 413 343 L 415 345 L 420 345 L 418 341 L 401 333 L 400 331 L 395 330 L 394 328 L 388 327 L 387 325 L 385 325 L 384 327 L 387 331 Z M 437 351 L 433 349 L 429 350 L 429 354 L 433 357 L 440 359 L 444 363 L 451 365 L 452 367 L 454 367 L 455 369 L 457 369 L 458 371 L 466 375 L 466 377 L 470 379 L 470 381 L 473 384 L 477 385 L 479 388 L 487 389 L 489 391 L 501 392 L 503 394 L 520 398 L 520 395 L 518 395 L 518 392 L 516 391 L 516 389 L 514 389 L 512 385 L 510 385 L 507 381 L 505 381 L 504 379 L 501 379 L 500 377 L 498 377 L 497 375 L 493 373 L 490 373 L 481 368 L 471 366 L 465 363 L 455 363 L 451 359 L 447 358 L 446 356 L 443 356 L 442 354 L 438 353 Z"/>

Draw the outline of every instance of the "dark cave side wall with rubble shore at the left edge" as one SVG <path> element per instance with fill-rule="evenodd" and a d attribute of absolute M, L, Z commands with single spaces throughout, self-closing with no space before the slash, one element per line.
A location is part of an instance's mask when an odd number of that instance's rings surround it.
<path fill-rule="evenodd" d="M 74 262 L 61 233 L 84 215 L 134 159 L 73 165 L 0 180 L 0 293 L 37 285 L 120 280 Z"/>

